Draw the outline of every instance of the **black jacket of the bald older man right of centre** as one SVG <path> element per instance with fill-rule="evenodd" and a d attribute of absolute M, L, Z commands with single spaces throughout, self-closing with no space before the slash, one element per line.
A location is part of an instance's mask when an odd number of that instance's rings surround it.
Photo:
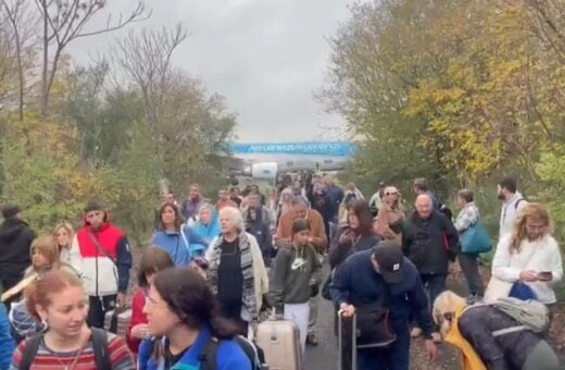
<path fill-rule="evenodd" d="M 460 239 L 444 214 L 432 211 L 424 220 L 414 212 L 404 221 L 402 247 L 419 273 L 447 274 L 449 261 L 455 261 L 460 250 Z"/>

